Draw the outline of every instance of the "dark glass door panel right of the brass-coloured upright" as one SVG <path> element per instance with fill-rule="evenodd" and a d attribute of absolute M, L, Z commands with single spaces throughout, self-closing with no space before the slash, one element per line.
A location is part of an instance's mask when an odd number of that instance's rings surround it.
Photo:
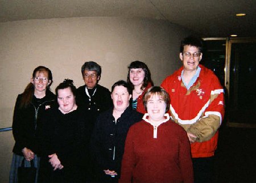
<path fill-rule="evenodd" d="M 256 125 L 256 42 L 230 41 L 229 122 Z"/>

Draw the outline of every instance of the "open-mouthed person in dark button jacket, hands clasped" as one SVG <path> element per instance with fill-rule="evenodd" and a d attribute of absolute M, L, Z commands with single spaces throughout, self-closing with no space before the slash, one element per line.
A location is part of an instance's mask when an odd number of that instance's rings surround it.
<path fill-rule="evenodd" d="M 114 83 L 111 93 L 114 107 L 97 118 L 91 140 L 97 182 L 118 182 L 127 132 L 143 116 L 131 108 L 131 93 L 124 80 Z"/>

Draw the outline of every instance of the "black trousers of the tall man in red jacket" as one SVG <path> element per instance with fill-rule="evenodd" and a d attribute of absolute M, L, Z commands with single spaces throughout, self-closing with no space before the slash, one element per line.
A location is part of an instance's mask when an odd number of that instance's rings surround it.
<path fill-rule="evenodd" d="M 195 183 L 213 182 L 214 156 L 209 158 L 192 158 Z"/>

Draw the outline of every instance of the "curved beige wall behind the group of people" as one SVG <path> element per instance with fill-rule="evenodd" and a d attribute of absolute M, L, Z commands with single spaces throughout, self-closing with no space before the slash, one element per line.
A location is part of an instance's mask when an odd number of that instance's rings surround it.
<path fill-rule="evenodd" d="M 84 84 L 81 65 L 90 60 L 102 66 L 100 84 L 105 87 L 110 88 L 119 79 L 126 80 L 127 66 L 135 60 L 148 65 L 155 85 L 159 85 L 180 66 L 180 40 L 189 34 L 169 22 L 142 18 L 0 23 L 0 127 L 11 126 L 16 96 L 23 92 L 36 66 L 52 70 L 53 91 L 65 78 L 73 79 L 77 87 Z M 13 146 L 10 140 L 0 141 Z M 10 161 L 3 160 L 2 151 L 5 150 L 1 146 L 0 172 L 6 174 Z"/>

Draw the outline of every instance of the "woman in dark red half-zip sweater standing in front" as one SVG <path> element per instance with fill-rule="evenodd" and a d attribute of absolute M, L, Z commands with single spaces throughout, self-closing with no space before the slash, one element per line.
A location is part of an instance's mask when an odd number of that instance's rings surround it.
<path fill-rule="evenodd" d="M 193 182 L 187 133 L 170 120 L 170 97 L 161 87 L 143 96 L 143 120 L 130 127 L 119 182 Z"/>

